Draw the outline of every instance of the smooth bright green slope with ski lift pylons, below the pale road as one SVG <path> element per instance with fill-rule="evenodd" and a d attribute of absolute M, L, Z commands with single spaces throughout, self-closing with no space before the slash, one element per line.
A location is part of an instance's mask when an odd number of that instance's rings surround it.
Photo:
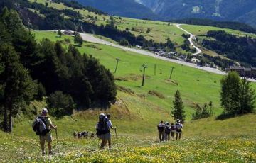
<path fill-rule="evenodd" d="M 40 40 L 48 37 L 51 40 L 63 40 L 64 38 L 56 37 L 53 32 L 36 32 L 36 38 Z M 69 36 L 65 36 L 69 37 Z M 94 45 L 95 47 L 90 47 Z M 127 52 L 115 47 L 107 45 L 97 45 L 93 43 L 85 43 L 82 47 L 78 47 L 80 52 L 92 55 L 100 59 L 100 62 L 114 72 L 116 58 L 121 59 L 117 73 L 114 77 L 119 86 L 132 89 L 136 94 L 145 96 L 145 100 L 155 103 L 165 111 L 170 111 L 174 93 L 178 89 L 188 111 L 188 119 L 191 117 L 192 107 L 196 103 L 205 103 L 213 101 L 215 112 L 220 113 L 219 94 L 220 78 L 218 74 L 211 74 L 199 69 L 191 69 L 181 64 L 158 60 L 154 57 L 138 55 L 134 52 Z M 146 64 L 145 86 L 142 84 L 142 64 Z M 154 75 L 154 65 L 156 64 L 156 75 Z M 171 67 L 174 72 L 169 80 Z M 161 73 L 161 74 L 160 74 Z M 150 90 L 158 91 L 164 95 L 164 99 L 147 94 Z"/>

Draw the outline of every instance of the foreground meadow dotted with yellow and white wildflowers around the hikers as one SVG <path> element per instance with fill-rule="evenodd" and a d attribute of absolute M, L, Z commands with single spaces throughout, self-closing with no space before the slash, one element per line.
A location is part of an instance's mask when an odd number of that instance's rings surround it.
<path fill-rule="evenodd" d="M 85 119 L 76 119 L 87 125 Z M 96 138 L 74 140 L 73 130 L 81 130 L 80 123 L 74 125 L 70 118 L 53 119 L 58 125 L 60 154 L 42 157 L 38 137 L 26 125 L 14 128 L 14 134 L 0 131 L 0 162 L 255 162 L 255 119 L 255 115 L 247 115 L 228 120 L 196 120 L 184 125 L 182 140 L 162 143 L 157 140 L 156 128 L 152 133 L 135 136 L 117 130 L 112 150 L 98 150 L 100 141 Z M 119 124 L 116 119 L 112 122 Z M 26 135 L 21 135 L 21 130 Z M 53 131 L 55 152 L 56 148 Z"/>

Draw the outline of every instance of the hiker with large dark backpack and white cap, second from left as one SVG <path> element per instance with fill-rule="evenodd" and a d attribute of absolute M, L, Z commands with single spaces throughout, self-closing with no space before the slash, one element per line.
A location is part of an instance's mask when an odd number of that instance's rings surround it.
<path fill-rule="evenodd" d="M 107 145 L 107 141 L 110 139 L 110 127 L 107 122 L 107 116 L 101 113 L 99 122 L 96 125 L 96 135 L 102 140 L 100 149 L 104 149 L 105 145 Z"/>

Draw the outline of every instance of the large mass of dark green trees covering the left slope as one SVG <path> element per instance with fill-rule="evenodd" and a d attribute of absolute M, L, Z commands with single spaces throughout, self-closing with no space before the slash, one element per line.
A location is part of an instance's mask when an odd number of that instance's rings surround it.
<path fill-rule="evenodd" d="M 68 99 L 67 107 L 61 108 L 64 111 L 58 111 L 63 103 L 48 101 L 52 113 L 59 116 L 72 113 L 74 106 L 86 109 L 115 100 L 114 77 L 94 57 L 81 55 L 74 45 L 65 49 L 60 42 L 48 39 L 36 42 L 14 10 L 1 11 L 0 28 L 0 113 L 4 114 L 4 130 L 11 131 L 12 117 L 43 96 L 57 96 L 56 101 Z"/>

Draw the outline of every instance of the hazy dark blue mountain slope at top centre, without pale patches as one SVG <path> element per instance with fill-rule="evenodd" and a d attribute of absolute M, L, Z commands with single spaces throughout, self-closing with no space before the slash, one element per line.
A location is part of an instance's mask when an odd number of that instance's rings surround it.
<path fill-rule="evenodd" d="M 85 6 L 92 6 L 102 11 L 117 16 L 129 18 L 150 18 L 159 19 L 159 16 L 146 6 L 138 4 L 132 0 L 77 0 Z"/>

